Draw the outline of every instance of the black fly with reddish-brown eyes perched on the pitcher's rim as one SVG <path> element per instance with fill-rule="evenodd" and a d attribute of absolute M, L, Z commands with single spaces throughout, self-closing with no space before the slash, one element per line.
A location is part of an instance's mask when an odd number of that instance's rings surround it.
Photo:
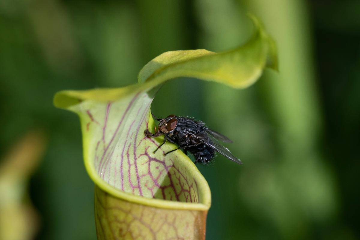
<path fill-rule="evenodd" d="M 145 130 L 145 135 L 148 137 L 157 137 L 164 134 L 164 141 L 154 153 L 165 144 L 166 140 L 179 145 L 179 148 L 165 153 L 171 153 L 178 149 L 184 149 L 185 154 L 190 151 L 195 157 L 195 164 L 201 162 L 203 164 L 209 163 L 215 156 L 215 151 L 224 155 L 226 158 L 233 160 L 235 163 L 242 164 L 240 159 L 236 158 L 230 153 L 229 149 L 225 148 L 219 143 L 232 142 L 224 135 L 215 132 L 205 126 L 205 123 L 194 120 L 188 117 L 177 117 L 175 115 L 169 115 L 166 118 L 156 118 L 159 121 L 158 129 L 155 133 Z"/>

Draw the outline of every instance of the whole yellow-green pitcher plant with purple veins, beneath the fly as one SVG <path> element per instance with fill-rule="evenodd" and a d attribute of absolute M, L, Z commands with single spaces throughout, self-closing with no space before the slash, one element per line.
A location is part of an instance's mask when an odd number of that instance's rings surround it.
<path fill-rule="evenodd" d="M 251 85 L 266 66 L 276 68 L 273 40 L 261 24 L 243 46 L 224 52 L 170 51 L 141 69 L 139 83 L 117 89 L 61 91 L 54 104 L 80 116 L 84 160 L 96 184 L 98 239 L 204 239 L 209 186 L 176 148 L 150 139 L 150 105 L 165 81 L 194 77 L 236 88 Z"/>

